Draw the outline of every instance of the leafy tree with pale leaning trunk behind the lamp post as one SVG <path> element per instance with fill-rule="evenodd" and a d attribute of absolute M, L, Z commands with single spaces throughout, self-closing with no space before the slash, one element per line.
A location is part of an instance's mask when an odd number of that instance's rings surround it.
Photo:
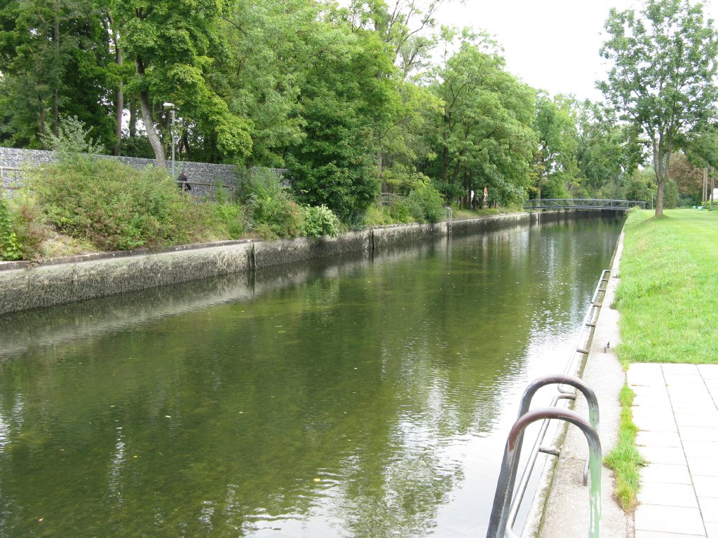
<path fill-rule="evenodd" d="M 119 44 L 136 67 L 129 90 L 139 95 L 142 121 L 159 166 L 164 166 L 164 146 L 153 108 L 165 101 L 177 105 L 186 128 L 201 133 L 197 138 L 205 161 L 241 160 L 251 151 L 246 118 L 233 114 L 208 84 L 215 58 L 225 53 L 220 32 L 225 9 L 224 0 L 114 1 Z"/>

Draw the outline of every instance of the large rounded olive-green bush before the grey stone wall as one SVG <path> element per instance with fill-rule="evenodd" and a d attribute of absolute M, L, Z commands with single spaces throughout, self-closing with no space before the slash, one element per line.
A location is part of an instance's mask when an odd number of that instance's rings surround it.
<path fill-rule="evenodd" d="M 104 250 L 207 240 L 220 224 L 154 166 L 73 156 L 37 169 L 30 186 L 48 222 Z"/>

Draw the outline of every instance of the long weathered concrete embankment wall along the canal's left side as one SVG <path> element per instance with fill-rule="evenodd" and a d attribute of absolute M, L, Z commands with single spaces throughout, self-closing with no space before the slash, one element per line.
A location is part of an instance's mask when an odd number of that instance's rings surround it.
<path fill-rule="evenodd" d="M 452 235 L 582 218 L 581 212 L 521 213 L 454 221 Z M 346 253 L 374 253 L 402 244 L 435 240 L 449 234 L 437 225 L 393 225 L 320 240 L 228 241 L 175 247 L 160 252 L 84 255 L 40 265 L 0 263 L 0 314 L 89 298 L 139 291 L 188 280 L 253 271 L 286 263 Z"/>

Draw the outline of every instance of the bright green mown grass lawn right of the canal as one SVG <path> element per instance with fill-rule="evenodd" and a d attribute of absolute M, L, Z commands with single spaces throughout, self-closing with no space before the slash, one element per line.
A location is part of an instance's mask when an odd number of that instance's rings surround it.
<path fill-rule="evenodd" d="M 718 212 L 632 212 L 616 293 L 630 362 L 718 363 Z"/>

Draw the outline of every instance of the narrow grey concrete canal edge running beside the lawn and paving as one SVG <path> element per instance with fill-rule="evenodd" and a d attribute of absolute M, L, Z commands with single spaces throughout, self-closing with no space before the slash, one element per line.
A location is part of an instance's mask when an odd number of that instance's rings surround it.
<path fill-rule="evenodd" d="M 600 438 L 603 456 L 617 443 L 620 420 L 618 395 L 623 387 L 625 372 L 614 348 L 620 340 L 618 311 L 612 307 L 619 282 L 620 259 L 623 253 L 623 232 L 618 239 L 611 276 L 597 318 L 590 353 L 583 372 L 578 372 L 598 397 L 600 408 Z M 574 410 L 588 416 L 586 400 L 577 398 Z M 561 440 L 562 438 L 562 440 Z M 589 535 L 589 489 L 583 485 L 584 461 L 588 447 L 578 428 L 561 428 L 556 443 L 561 443 L 559 458 L 550 458 L 541 477 L 540 491 L 534 500 L 524 536 L 540 538 L 587 537 Z M 602 468 L 600 536 L 633 538 L 633 514 L 626 514 L 613 499 L 613 473 Z"/>

